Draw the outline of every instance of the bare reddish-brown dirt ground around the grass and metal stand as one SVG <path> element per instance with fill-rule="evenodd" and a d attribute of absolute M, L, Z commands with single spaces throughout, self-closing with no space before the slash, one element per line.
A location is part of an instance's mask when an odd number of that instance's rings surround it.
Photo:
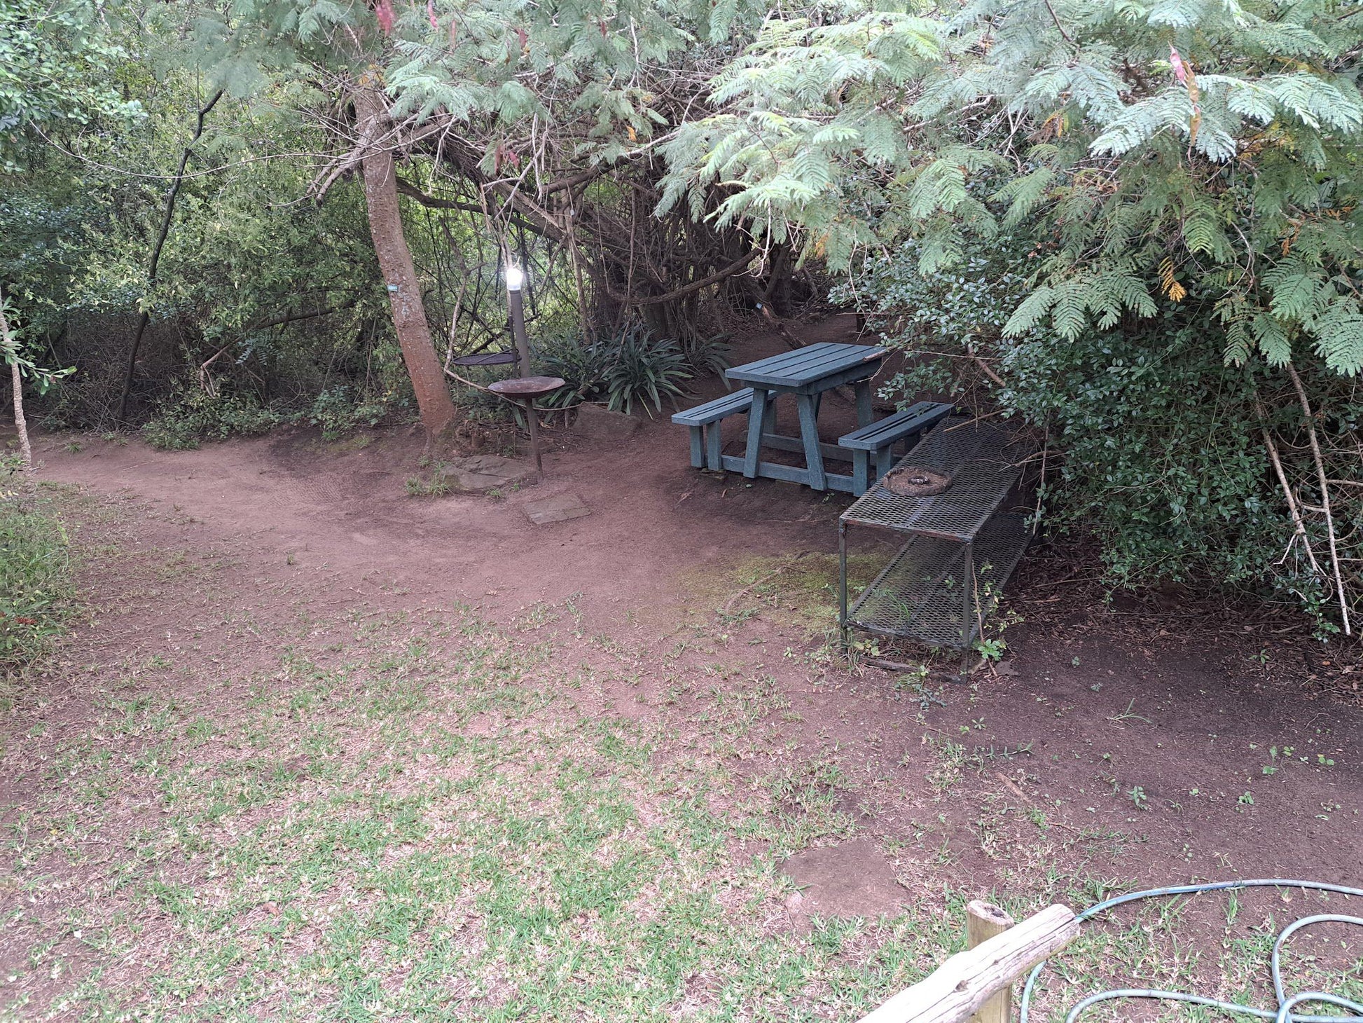
<path fill-rule="evenodd" d="M 781 344 L 750 338 L 739 355 Z M 833 413 L 830 432 L 851 409 Z M 300 608 L 472 606 L 590 674 L 600 707 L 676 728 L 675 756 L 703 746 L 778 810 L 836 820 L 789 863 L 796 921 L 893 913 L 942 885 L 1363 881 L 1358 675 L 1289 623 L 1109 603 L 1040 548 L 1010 585 L 1022 621 L 1003 671 L 958 685 L 849 670 L 827 632 L 846 498 L 695 472 L 665 416 L 628 442 L 545 435 L 545 480 L 499 498 L 409 496 L 421 445 L 406 431 L 183 453 L 42 438 L 42 477 L 102 509 L 85 578 L 97 612 L 52 690 L 11 713 L 0 802 L 22 809 L 52 784 L 30 768 L 89 723 L 114 668 L 202 693 L 275 671 L 259 636 Z M 527 501 L 566 491 L 592 514 L 530 524 Z M 120 546 L 155 552 L 164 578 L 134 585 L 119 558 L 101 561 Z M 288 678 L 278 686 L 286 697 Z M 741 728 L 716 711 L 733 707 Z M 135 835 L 158 813 L 150 795 L 125 802 L 109 831 Z"/>

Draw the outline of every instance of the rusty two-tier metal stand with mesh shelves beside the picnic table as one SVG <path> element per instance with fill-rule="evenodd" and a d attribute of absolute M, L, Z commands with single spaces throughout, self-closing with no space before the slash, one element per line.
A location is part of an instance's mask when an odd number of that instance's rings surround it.
<path fill-rule="evenodd" d="M 1032 540 L 1028 516 L 1000 513 L 1022 476 L 1029 446 L 992 423 L 946 419 L 895 468 L 921 466 L 951 477 L 932 496 L 895 494 L 879 481 L 838 520 L 840 625 L 901 636 L 962 652 L 968 674 L 984 614 L 977 599 L 998 593 Z M 852 525 L 909 533 L 910 539 L 848 607 L 846 535 Z M 968 581 L 972 581 L 968 585 Z"/>

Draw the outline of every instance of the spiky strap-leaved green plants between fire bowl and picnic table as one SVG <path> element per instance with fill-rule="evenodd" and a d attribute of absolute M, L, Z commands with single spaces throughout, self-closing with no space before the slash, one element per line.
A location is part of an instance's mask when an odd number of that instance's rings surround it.
<path fill-rule="evenodd" d="M 657 341 L 641 323 L 589 344 L 571 334 L 551 338 L 537 361 L 545 374 L 566 381 L 545 400 L 551 408 L 598 401 L 615 412 L 632 413 L 635 404 L 657 412 L 664 398 L 682 397 L 683 381 L 694 375 L 676 341 Z"/>

